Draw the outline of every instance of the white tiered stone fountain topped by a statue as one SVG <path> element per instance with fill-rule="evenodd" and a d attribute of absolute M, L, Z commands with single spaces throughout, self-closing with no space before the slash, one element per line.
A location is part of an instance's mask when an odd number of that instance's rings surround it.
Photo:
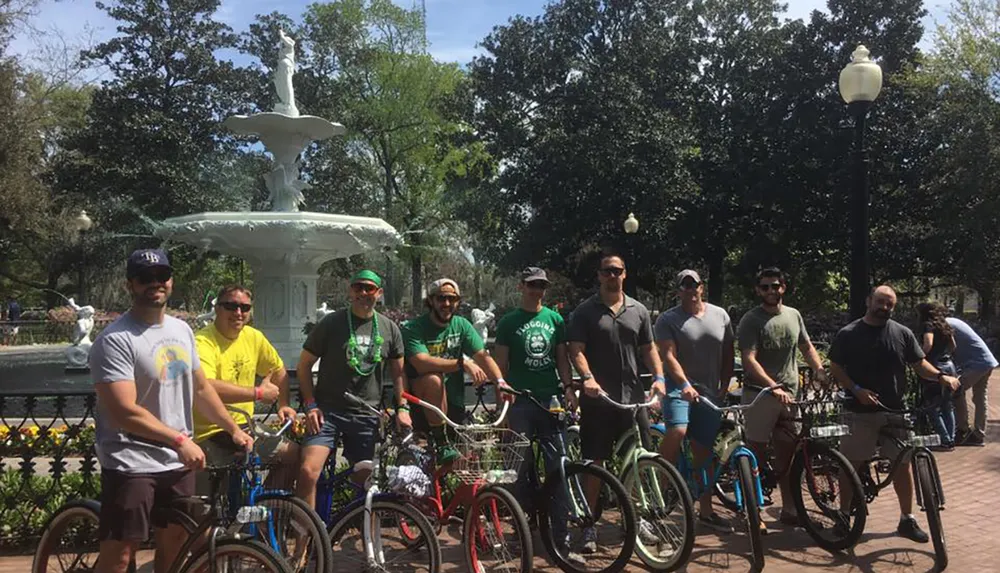
<path fill-rule="evenodd" d="M 254 271 L 254 326 L 264 331 L 285 366 L 298 363 L 302 329 L 316 310 L 319 266 L 331 259 L 399 244 L 396 230 L 382 219 L 299 211 L 309 184 L 299 178 L 299 155 L 313 141 L 342 135 L 344 126 L 299 115 L 292 89 L 295 42 L 281 32 L 274 85 L 274 110 L 237 115 L 223 125 L 253 134 L 274 156 L 265 180 L 271 211 L 198 213 L 167 219 L 157 235 L 243 258 Z M 219 285 L 222 286 L 222 285 Z"/>

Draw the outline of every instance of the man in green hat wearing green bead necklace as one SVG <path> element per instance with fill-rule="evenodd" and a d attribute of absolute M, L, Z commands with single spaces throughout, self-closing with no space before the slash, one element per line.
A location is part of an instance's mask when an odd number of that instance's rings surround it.
<path fill-rule="evenodd" d="M 316 482 L 337 442 L 343 437 L 344 456 L 351 464 L 371 460 L 375 455 L 378 421 L 366 411 L 344 400 L 350 392 L 371 404 L 382 394 L 383 372 L 388 365 L 396 389 L 396 404 L 402 403 L 403 336 L 399 327 L 375 311 L 382 296 L 382 278 L 363 270 L 351 277 L 350 306 L 334 311 L 317 324 L 299 356 L 298 379 L 306 410 L 306 431 L 302 441 L 302 467 L 296 495 L 310 507 L 316 504 Z M 317 360 L 319 376 L 312 384 L 312 367 Z M 401 412 L 398 420 L 409 425 Z M 355 474 L 358 483 L 367 475 Z"/>

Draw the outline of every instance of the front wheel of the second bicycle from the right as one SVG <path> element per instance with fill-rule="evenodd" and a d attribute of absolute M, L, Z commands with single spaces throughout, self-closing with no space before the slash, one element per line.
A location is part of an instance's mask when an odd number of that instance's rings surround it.
<path fill-rule="evenodd" d="M 809 460 L 806 460 L 805 452 L 809 451 Z M 851 487 L 851 508 L 848 514 L 848 522 L 850 527 L 847 529 L 847 535 L 840 539 L 832 539 L 829 533 L 834 532 L 836 528 L 824 527 L 823 525 L 815 522 L 809 518 L 810 512 L 806 510 L 805 497 L 802 495 L 802 479 L 803 477 L 808 478 L 810 475 L 815 475 L 813 471 L 807 471 L 806 463 L 809 463 L 810 468 L 813 467 L 813 456 L 825 457 L 831 460 L 837 469 L 837 476 L 847 475 L 850 481 Z M 798 453 L 795 454 L 795 459 L 792 461 L 791 470 L 791 481 L 794 484 L 792 487 L 792 501 L 795 503 L 795 510 L 799 515 L 799 519 L 802 523 L 802 527 L 809 534 L 809 537 L 813 538 L 813 541 L 823 549 L 836 553 L 839 551 L 844 551 L 854 547 L 858 540 L 861 539 L 861 535 L 865 531 L 865 523 L 868 520 L 868 505 L 865 503 L 865 493 L 861 486 L 861 478 L 858 477 L 857 472 L 854 470 L 854 466 L 844 457 L 844 454 L 831 448 L 827 444 L 819 441 L 808 442 L 805 449 L 800 449 Z M 837 487 L 840 487 L 840 480 L 837 481 Z M 816 499 L 817 492 L 815 488 L 810 488 L 810 495 L 817 505 L 821 502 Z M 843 495 L 843 492 L 840 494 Z M 833 500 L 831 500 L 833 501 Z M 836 507 L 827 506 L 823 508 L 824 514 L 829 515 L 832 512 L 836 512 L 836 519 L 840 519 L 840 507 L 839 502 Z M 831 518 L 831 519 L 834 519 Z M 851 521 L 853 518 L 853 521 Z"/>

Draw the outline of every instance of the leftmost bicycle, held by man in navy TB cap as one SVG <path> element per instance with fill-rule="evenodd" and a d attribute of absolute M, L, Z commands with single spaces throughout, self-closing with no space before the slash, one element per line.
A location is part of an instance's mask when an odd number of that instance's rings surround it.
<path fill-rule="evenodd" d="M 183 497 L 174 501 L 171 507 L 154 508 L 153 515 L 157 520 L 181 525 L 188 534 L 187 541 L 174 556 L 168 569 L 169 573 L 189 573 L 192 571 L 216 571 L 220 566 L 226 571 L 239 570 L 234 568 L 237 563 L 229 560 L 246 560 L 256 572 L 290 573 L 284 560 L 271 548 L 263 543 L 249 539 L 240 534 L 227 531 L 229 519 L 224 509 L 223 495 L 220 483 L 228 475 L 231 467 L 213 470 L 211 476 L 212 495 L 206 497 Z M 200 519 L 193 517 L 192 506 L 208 506 L 208 511 L 202 512 Z M 237 520 L 242 523 L 263 523 L 269 517 L 269 511 L 263 506 L 244 506 L 237 511 Z M 46 524 L 42 538 L 35 550 L 32 561 L 33 573 L 48 573 L 49 571 L 81 572 L 93 571 L 97 567 L 99 542 L 97 541 L 97 525 L 100 516 L 100 503 L 93 500 L 79 500 L 68 503 L 60 508 Z M 82 520 L 81 523 L 76 523 Z M 67 563 L 59 553 L 64 534 L 71 534 L 79 541 L 76 534 L 84 533 L 85 548 L 93 550 L 93 560 L 86 554 L 76 553 Z M 92 535 L 91 535 L 92 534 Z M 76 547 L 79 547 L 78 545 Z M 220 559 L 222 563 L 220 565 Z M 59 566 L 68 564 L 68 567 Z M 133 560 L 129 571 L 135 571 Z"/>

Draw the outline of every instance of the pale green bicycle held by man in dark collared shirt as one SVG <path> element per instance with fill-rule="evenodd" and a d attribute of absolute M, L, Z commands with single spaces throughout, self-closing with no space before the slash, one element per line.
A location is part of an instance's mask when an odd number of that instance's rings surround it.
<path fill-rule="evenodd" d="M 694 501 L 677 468 L 646 449 L 639 439 L 639 412 L 658 404 L 659 399 L 621 404 L 603 390 L 599 396 L 605 403 L 632 413 L 632 428 L 615 442 L 611 461 L 619 468 L 618 479 L 635 505 L 635 552 L 647 567 L 673 571 L 687 563 L 694 548 Z"/>

